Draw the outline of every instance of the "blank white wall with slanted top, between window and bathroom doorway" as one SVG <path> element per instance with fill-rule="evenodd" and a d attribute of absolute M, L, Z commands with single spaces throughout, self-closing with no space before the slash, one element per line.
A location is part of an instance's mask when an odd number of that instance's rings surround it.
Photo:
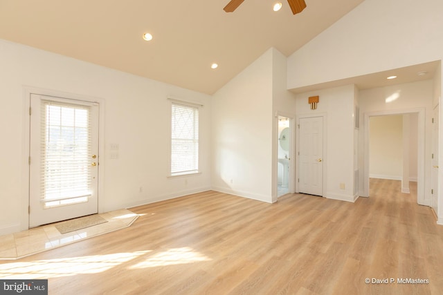
<path fill-rule="evenodd" d="M 273 49 L 213 95 L 212 186 L 272 202 Z"/>

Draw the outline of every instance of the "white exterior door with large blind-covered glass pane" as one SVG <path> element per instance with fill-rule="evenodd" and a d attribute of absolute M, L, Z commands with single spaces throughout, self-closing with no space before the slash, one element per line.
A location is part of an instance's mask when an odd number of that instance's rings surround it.
<path fill-rule="evenodd" d="M 29 225 L 98 212 L 98 104 L 30 95 Z"/>

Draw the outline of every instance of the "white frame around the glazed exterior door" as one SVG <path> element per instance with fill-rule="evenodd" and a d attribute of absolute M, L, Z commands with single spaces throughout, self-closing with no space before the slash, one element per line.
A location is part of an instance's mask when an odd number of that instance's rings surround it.
<path fill-rule="evenodd" d="M 45 95 L 49 97 L 60 97 L 66 99 L 82 100 L 84 102 L 94 102 L 99 104 L 98 108 L 98 155 L 100 159 L 100 165 L 98 165 L 98 213 L 103 212 L 104 204 L 100 196 L 104 193 L 104 175 L 105 175 L 105 99 L 100 97 L 91 97 L 88 95 L 80 95 L 75 93 L 66 93 L 63 91 L 54 91 L 45 88 L 38 88 L 33 86 L 24 86 L 23 95 L 23 136 L 24 146 L 22 151 L 22 191 L 21 191 L 21 207 L 20 207 L 20 231 L 29 229 L 29 196 L 30 196 L 30 167 L 29 167 L 29 152 L 30 152 L 30 95 Z"/>

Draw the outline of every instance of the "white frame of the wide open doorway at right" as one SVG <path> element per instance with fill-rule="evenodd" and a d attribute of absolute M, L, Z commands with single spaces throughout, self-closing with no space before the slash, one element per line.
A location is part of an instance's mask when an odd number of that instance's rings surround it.
<path fill-rule="evenodd" d="M 406 110 L 392 110 L 392 111 L 374 111 L 364 113 L 363 118 L 363 192 L 362 197 L 369 197 L 369 120 L 370 117 L 382 115 L 406 115 L 418 114 L 418 135 L 417 135 L 417 203 L 421 205 L 429 205 L 426 202 L 424 191 L 424 171 L 426 169 L 425 144 L 426 144 L 426 109 L 425 108 L 410 108 Z"/>

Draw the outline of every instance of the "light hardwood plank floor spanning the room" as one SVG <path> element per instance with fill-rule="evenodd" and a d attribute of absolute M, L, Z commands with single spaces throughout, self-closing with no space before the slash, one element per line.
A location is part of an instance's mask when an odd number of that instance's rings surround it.
<path fill-rule="evenodd" d="M 443 227 L 416 187 L 399 190 L 373 179 L 355 203 L 197 193 L 132 208 L 132 227 L 0 269 L 48 278 L 49 294 L 442 294 Z"/>

